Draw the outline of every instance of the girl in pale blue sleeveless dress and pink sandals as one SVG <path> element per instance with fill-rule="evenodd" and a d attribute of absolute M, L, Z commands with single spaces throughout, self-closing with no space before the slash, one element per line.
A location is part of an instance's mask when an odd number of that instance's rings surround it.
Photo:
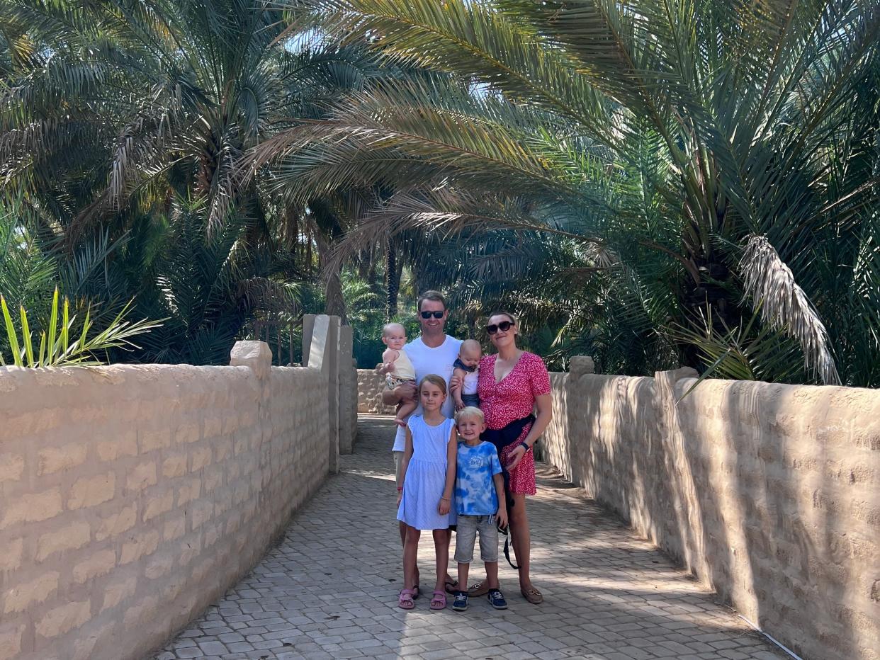
<path fill-rule="evenodd" d="M 407 422 L 407 445 L 403 452 L 402 490 L 398 495 L 397 519 L 407 525 L 403 544 L 403 585 L 398 605 L 404 610 L 414 607 L 416 555 L 422 530 L 434 534 L 437 581 L 431 598 L 431 609 L 446 606 L 444 581 L 449 566 L 449 525 L 452 488 L 455 485 L 455 458 L 458 446 L 455 421 L 440 412 L 446 400 L 446 380 L 429 374 L 419 384 L 422 414 L 412 415 Z"/>

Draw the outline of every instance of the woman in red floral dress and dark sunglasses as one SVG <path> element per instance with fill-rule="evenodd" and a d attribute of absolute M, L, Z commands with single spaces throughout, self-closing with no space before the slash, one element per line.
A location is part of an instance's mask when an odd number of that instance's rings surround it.
<path fill-rule="evenodd" d="M 517 421 L 521 424 L 535 408 L 538 410 L 534 422 L 526 423 L 522 432 L 504 446 L 498 457 L 510 473 L 508 488 L 514 502 L 510 509 L 510 537 L 519 564 L 519 589 L 526 600 L 537 605 L 544 598 L 529 576 L 532 539 L 525 512 L 525 495 L 535 494 L 532 445 L 538 442 L 553 417 L 550 377 L 539 356 L 517 348 L 517 319 L 511 314 L 493 314 L 486 330 L 498 350 L 494 356 L 484 356 L 480 360 L 477 380 L 480 408 L 486 415 L 487 428 L 498 430 L 513 424 L 516 429 Z M 483 581 L 469 591 L 479 596 L 487 590 L 487 581 Z"/>

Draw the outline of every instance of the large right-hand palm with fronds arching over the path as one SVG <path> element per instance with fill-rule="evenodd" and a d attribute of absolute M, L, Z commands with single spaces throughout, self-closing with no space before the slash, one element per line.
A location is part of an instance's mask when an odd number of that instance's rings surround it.
<path fill-rule="evenodd" d="M 880 382 L 876 3 L 290 4 L 457 77 L 353 94 L 262 144 L 291 187 L 393 186 L 372 235 L 565 237 L 682 363 Z M 758 336 L 798 348 L 742 349 Z"/>

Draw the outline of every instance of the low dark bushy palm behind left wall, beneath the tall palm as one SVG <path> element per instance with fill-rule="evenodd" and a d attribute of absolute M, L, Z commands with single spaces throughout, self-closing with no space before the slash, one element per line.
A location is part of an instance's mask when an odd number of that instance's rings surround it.
<path fill-rule="evenodd" d="M 295 325 L 300 290 L 285 277 L 284 255 L 245 239 L 253 230 L 245 213 L 227 214 L 215 231 L 208 231 L 209 222 L 204 198 L 179 198 L 172 216 L 145 217 L 133 228 L 116 268 L 136 282 L 136 314 L 165 321 L 121 361 L 222 364 L 249 324 L 260 337 L 259 326 L 268 321 L 288 330 Z M 275 327 L 275 341 L 282 334 Z"/>

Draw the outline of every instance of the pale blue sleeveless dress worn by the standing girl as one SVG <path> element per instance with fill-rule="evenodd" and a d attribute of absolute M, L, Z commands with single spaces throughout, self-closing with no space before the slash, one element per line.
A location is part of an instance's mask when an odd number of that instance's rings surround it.
<path fill-rule="evenodd" d="M 450 502 L 453 513 L 445 516 L 437 513 L 446 488 L 446 451 L 455 420 L 447 419 L 430 426 L 422 415 L 414 414 L 407 426 L 413 435 L 413 456 L 403 480 L 403 499 L 397 519 L 417 530 L 444 530 L 457 519 L 455 502 Z"/>

